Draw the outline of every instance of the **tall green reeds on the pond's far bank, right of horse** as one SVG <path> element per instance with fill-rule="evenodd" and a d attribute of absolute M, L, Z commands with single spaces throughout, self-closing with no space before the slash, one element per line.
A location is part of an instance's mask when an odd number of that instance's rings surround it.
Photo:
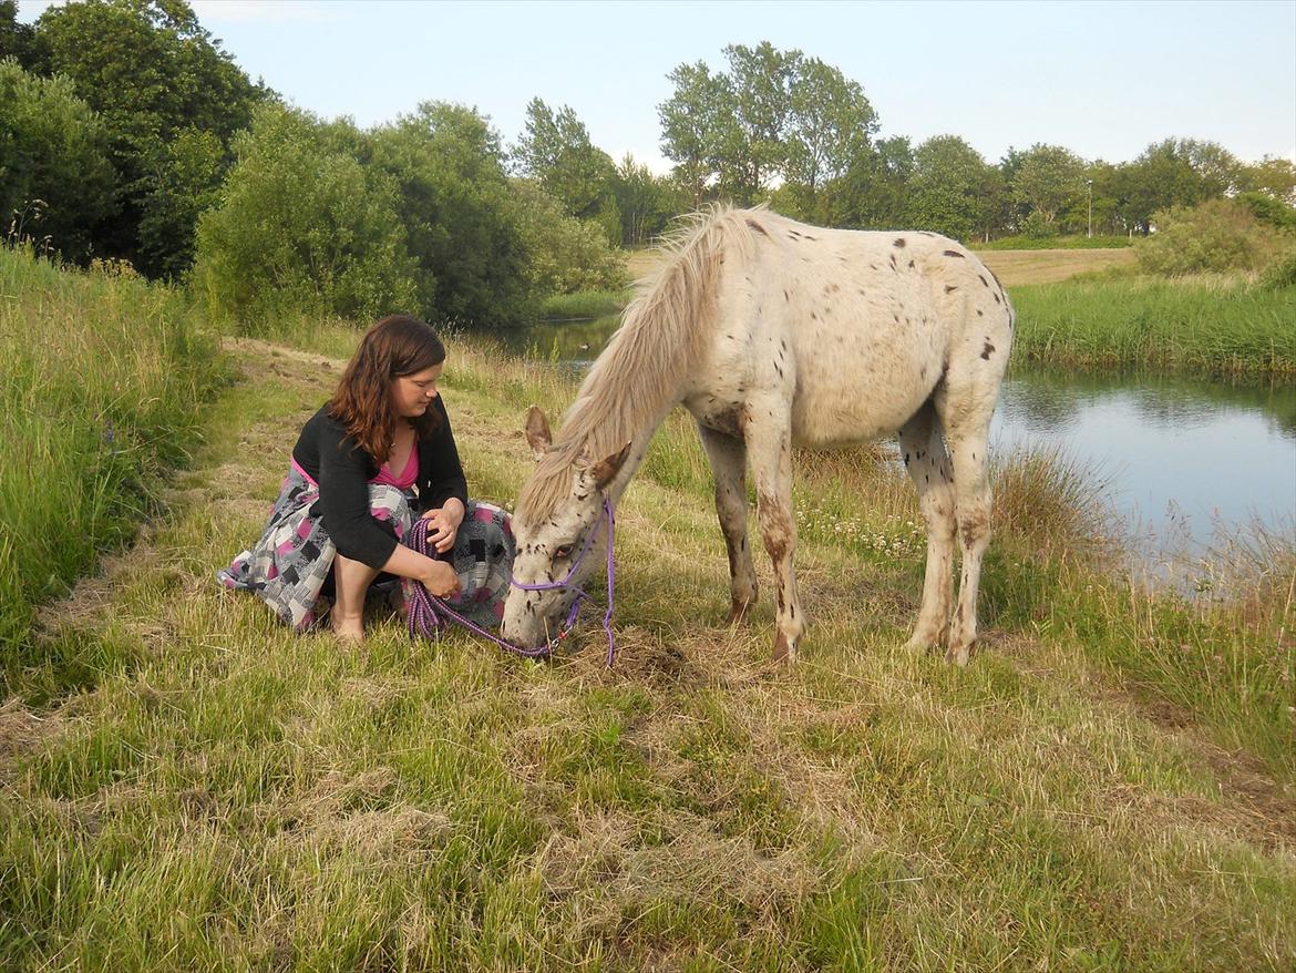
<path fill-rule="evenodd" d="M 1017 361 L 1296 375 L 1296 288 L 1117 276 L 1016 287 L 1012 301 Z"/>

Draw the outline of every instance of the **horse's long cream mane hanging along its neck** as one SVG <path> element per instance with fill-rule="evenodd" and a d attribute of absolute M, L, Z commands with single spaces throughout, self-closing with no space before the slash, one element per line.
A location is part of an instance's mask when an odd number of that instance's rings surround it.
<path fill-rule="evenodd" d="M 638 296 L 581 383 L 553 446 L 522 486 L 520 515 L 550 516 L 568 494 L 578 462 L 617 453 L 671 405 L 705 350 L 719 265 L 727 252 L 750 253 L 763 215 L 712 206 L 686 217 L 671 234 L 664 266 L 638 283 Z"/>

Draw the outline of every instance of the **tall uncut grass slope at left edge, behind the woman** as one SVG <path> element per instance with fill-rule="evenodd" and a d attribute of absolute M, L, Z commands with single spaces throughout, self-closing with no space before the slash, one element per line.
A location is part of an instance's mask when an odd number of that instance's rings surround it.
<path fill-rule="evenodd" d="M 113 266 L 0 248 L 0 688 L 34 653 L 35 606 L 66 594 L 154 509 L 222 381 L 183 296 Z M 92 659 L 67 659 L 88 669 Z"/>

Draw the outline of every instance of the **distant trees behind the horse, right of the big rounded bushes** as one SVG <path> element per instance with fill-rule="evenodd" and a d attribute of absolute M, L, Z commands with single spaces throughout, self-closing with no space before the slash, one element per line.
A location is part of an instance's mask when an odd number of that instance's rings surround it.
<path fill-rule="evenodd" d="M 1248 193 L 1296 202 L 1296 165 L 1283 158 L 1247 163 L 1213 141 L 1164 139 L 1122 163 L 1045 144 L 989 162 L 956 135 L 918 145 L 877 138 L 863 87 L 800 51 L 739 44 L 724 48 L 724 70 L 699 61 L 669 75 L 674 91 L 658 117 L 670 176 L 653 178 L 630 158 L 614 165 L 572 109 L 555 113 L 538 99 L 516 148 L 520 171 L 613 239 L 619 227 L 627 245 L 708 201 L 978 243 L 1147 235 L 1157 213 Z"/>

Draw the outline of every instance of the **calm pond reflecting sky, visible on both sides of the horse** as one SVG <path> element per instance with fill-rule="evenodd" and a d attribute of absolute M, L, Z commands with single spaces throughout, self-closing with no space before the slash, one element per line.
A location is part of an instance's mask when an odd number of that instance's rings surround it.
<path fill-rule="evenodd" d="M 546 323 L 517 352 L 583 371 L 619 319 Z M 1107 484 L 1148 560 L 1196 555 L 1261 524 L 1296 531 L 1296 383 L 1013 367 L 991 446 L 1059 450 Z"/>

